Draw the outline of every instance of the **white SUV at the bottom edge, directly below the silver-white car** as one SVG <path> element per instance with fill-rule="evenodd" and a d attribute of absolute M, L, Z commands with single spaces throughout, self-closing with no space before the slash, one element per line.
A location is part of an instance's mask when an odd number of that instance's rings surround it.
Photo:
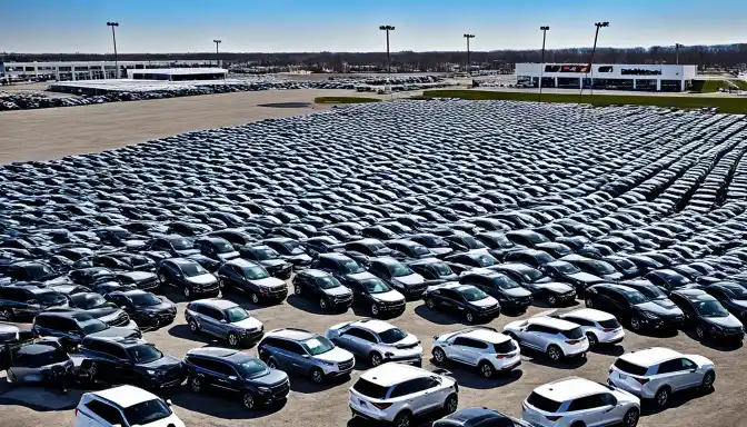
<path fill-rule="evenodd" d="M 457 410 L 459 386 L 444 373 L 392 363 L 371 368 L 350 387 L 352 416 L 409 427 L 427 413 L 451 414 Z"/>

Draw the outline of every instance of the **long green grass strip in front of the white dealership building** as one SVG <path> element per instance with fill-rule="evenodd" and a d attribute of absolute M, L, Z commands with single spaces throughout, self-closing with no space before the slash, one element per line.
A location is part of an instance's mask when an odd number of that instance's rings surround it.
<path fill-rule="evenodd" d="M 460 98 L 467 100 L 505 100 L 536 102 L 537 93 L 500 92 L 487 90 L 427 90 L 426 97 Z M 542 102 L 577 103 L 578 95 L 572 93 L 542 93 Z M 582 103 L 589 103 L 590 97 L 585 95 Z M 718 108 L 718 112 L 747 115 L 747 98 L 704 98 L 704 97 L 666 97 L 666 96 L 627 96 L 627 95 L 596 95 L 592 105 L 606 106 L 653 106 L 680 109 Z"/>

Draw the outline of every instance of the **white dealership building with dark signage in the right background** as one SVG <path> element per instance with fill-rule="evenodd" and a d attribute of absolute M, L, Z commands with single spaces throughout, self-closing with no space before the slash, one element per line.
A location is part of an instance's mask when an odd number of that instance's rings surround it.
<path fill-rule="evenodd" d="M 696 66 L 622 63 L 517 63 L 519 85 L 562 89 L 614 89 L 681 92 L 688 90 Z"/>

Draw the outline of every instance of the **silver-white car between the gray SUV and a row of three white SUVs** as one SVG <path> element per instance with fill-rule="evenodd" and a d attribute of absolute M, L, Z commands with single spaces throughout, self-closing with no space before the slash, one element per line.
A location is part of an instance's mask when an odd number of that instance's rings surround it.
<path fill-rule="evenodd" d="M 420 340 L 384 320 L 363 319 L 332 326 L 325 334 L 337 346 L 345 348 L 371 366 L 385 361 L 422 365 Z"/>

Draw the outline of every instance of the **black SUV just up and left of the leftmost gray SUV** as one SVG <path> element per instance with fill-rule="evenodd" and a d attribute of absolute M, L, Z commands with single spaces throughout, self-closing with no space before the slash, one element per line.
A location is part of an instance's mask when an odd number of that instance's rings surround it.
<path fill-rule="evenodd" d="M 141 289 L 111 292 L 106 298 L 124 310 L 140 327 L 171 325 L 177 317 L 173 302 Z"/>

